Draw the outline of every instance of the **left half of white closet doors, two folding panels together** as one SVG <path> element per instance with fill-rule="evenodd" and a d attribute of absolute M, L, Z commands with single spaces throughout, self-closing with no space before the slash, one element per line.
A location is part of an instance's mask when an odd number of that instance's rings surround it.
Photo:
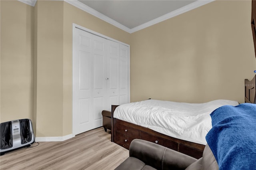
<path fill-rule="evenodd" d="M 102 126 L 106 93 L 106 39 L 77 29 L 74 35 L 74 133 Z"/>

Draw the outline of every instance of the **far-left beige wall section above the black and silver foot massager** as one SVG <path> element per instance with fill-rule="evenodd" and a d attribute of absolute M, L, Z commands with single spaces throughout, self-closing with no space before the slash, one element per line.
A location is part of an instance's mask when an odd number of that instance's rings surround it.
<path fill-rule="evenodd" d="M 1 3 L 0 121 L 32 119 L 34 8 L 19 1 Z"/>

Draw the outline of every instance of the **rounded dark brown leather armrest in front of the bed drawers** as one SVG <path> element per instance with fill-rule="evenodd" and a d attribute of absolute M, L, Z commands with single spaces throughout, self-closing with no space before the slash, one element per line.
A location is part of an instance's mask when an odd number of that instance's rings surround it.
<path fill-rule="evenodd" d="M 129 148 L 135 157 L 156 169 L 185 169 L 197 159 L 146 140 L 134 139 Z"/>

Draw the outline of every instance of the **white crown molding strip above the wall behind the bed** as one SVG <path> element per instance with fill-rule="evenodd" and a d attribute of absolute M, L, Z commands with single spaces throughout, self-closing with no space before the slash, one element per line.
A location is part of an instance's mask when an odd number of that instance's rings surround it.
<path fill-rule="evenodd" d="M 188 5 L 186 5 L 186 6 L 183 6 L 182 8 L 179 8 L 179 9 L 177 9 L 177 10 L 174 10 L 174 11 L 168 13 L 168 14 L 165 14 L 165 15 L 163 15 L 163 16 L 160 16 L 160 17 L 158 17 L 158 18 L 156 18 L 156 19 L 154 19 L 154 20 L 151 20 L 151 21 L 149 21 L 149 22 L 146 22 L 145 24 L 142 24 L 142 25 L 140 25 L 140 26 L 134 27 L 134 28 L 130 29 L 130 33 L 133 33 L 133 32 L 139 31 L 139 30 L 142 30 L 142 29 L 144 29 L 144 28 L 147 28 L 147 27 L 149 27 L 149 26 L 152 26 L 152 25 L 157 24 L 157 23 L 159 23 L 159 22 L 162 22 L 162 21 L 164 21 L 164 20 L 168 20 L 168 19 L 170 19 L 170 18 L 172 18 L 172 17 L 178 16 L 178 15 L 180 15 L 180 14 L 183 14 L 183 13 L 185 13 L 185 12 L 188 12 L 188 11 L 190 11 L 190 10 L 193 10 L 193 9 L 195 9 L 195 8 L 198 8 L 198 7 L 200 7 L 200 6 L 203 6 L 203 5 L 208 4 L 208 3 L 210 3 L 210 2 L 213 2 L 213 1 L 214 1 L 214 0 L 197 0 L 197 1 L 193 2 L 193 3 L 191 3 L 191 4 L 188 4 Z"/>

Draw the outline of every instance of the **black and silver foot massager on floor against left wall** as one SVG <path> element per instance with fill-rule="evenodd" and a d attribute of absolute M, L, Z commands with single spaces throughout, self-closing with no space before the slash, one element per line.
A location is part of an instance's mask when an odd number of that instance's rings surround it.
<path fill-rule="evenodd" d="M 1 123 L 0 155 L 6 152 L 30 146 L 35 142 L 30 119 L 19 119 Z"/>

